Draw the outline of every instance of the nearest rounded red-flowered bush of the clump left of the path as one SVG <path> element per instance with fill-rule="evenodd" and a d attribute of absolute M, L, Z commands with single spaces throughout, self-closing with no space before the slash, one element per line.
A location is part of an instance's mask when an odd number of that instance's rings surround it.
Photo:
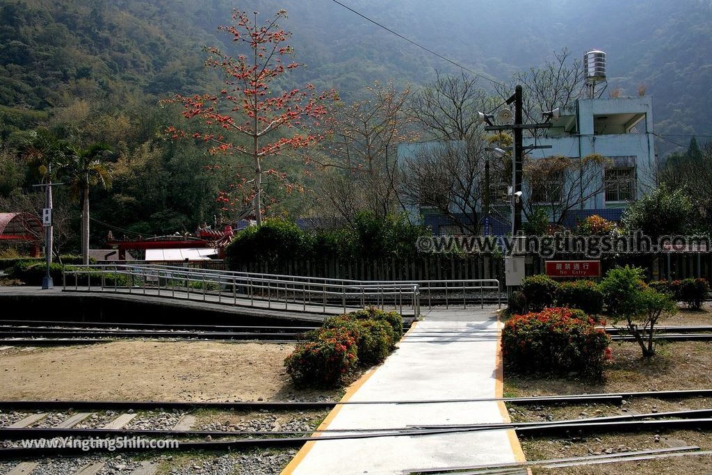
<path fill-rule="evenodd" d="M 300 343 L 284 364 L 295 385 L 330 387 L 357 365 L 354 335 L 345 328 L 321 328 Z"/>

